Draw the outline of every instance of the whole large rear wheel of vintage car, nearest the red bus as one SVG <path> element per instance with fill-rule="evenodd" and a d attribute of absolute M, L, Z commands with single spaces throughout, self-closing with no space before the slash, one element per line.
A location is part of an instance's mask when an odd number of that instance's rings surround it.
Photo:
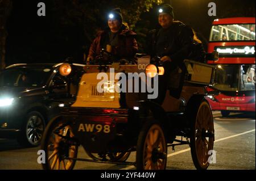
<path fill-rule="evenodd" d="M 196 169 L 207 169 L 213 153 L 214 125 L 212 110 L 203 101 L 197 111 L 191 129 L 191 154 Z"/>

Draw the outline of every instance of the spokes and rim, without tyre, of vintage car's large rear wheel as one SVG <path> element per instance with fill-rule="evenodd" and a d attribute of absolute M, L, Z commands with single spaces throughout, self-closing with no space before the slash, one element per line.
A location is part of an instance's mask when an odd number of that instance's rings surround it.
<path fill-rule="evenodd" d="M 201 104 L 196 116 L 195 149 L 200 167 L 208 167 L 209 150 L 213 149 L 214 128 L 212 112 L 207 103 Z"/>

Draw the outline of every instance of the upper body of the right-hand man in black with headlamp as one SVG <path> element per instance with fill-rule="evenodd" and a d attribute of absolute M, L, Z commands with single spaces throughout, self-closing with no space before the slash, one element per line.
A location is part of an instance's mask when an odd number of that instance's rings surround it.
<path fill-rule="evenodd" d="M 191 52 L 194 36 L 192 29 L 174 21 L 173 8 L 168 4 L 160 7 L 158 22 L 160 27 L 148 35 L 148 53 L 151 57 L 160 56 L 164 62 L 180 65 Z"/>

